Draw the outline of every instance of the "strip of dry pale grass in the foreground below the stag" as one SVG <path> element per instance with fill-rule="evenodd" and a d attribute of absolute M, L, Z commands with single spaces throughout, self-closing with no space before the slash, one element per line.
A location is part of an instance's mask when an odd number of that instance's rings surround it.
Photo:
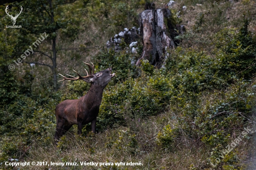
<path fill-rule="evenodd" d="M 209 149 L 205 146 L 195 146 L 188 138 L 182 137 L 180 143 L 175 144 L 172 149 L 163 149 L 155 142 L 155 137 L 159 131 L 162 131 L 164 124 L 176 124 L 174 113 L 171 111 L 165 114 L 150 117 L 140 122 L 128 121 L 128 127 L 117 127 L 108 129 L 96 135 L 90 134 L 88 137 L 79 137 L 75 135 L 75 127 L 69 131 L 66 137 L 62 138 L 59 146 L 51 144 L 47 147 L 41 147 L 34 144 L 26 161 L 38 162 L 139 162 L 143 166 L 120 166 L 121 170 L 185 170 L 194 163 L 195 166 L 203 167 L 206 163 L 206 155 L 209 156 Z M 138 126 L 137 126 L 137 125 Z M 121 133 L 124 131 L 125 133 Z M 137 141 L 136 151 L 130 151 L 129 146 L 131 136 L 135 134 Z M 122 136 L 122 137 L 121 137 Z M 118 141 L 120 140 L 120 141 Z M 110 166 L 38 166 L 24 167 L 27 170 L 107 170 Z M 22 167 L 21 167 L 22 169 Z M 112 169 L 115 169 L 112 167 Z"/>

